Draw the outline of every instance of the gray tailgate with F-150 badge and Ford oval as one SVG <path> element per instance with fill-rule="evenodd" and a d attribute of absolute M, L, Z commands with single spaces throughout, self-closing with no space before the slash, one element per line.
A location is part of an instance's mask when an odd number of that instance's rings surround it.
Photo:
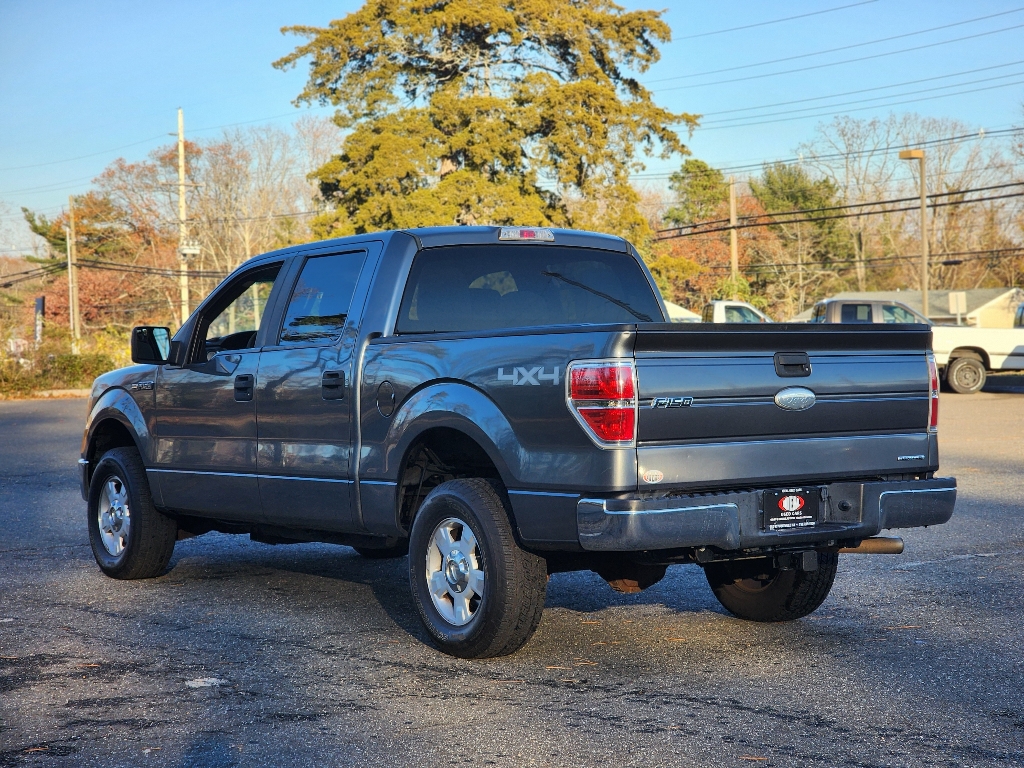
<path fill-rule="evenodd" d="M 915 326 L 641 326 L 638 484 L 741 487 L 934 470 L 930 346 L 931 332 Z M 776 395 L 792 388 L 813 392 L 813 404 L 781 407 L 786 396 Z M 793 394 L 791 407 L 811 399 Z"/>

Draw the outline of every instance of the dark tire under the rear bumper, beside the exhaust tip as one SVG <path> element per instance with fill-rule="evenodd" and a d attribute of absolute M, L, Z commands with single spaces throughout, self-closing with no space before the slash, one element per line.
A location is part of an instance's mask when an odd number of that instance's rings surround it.
<path fill-rule="evenodd" d="M 751 622 L 792 622 L 817 610 L 828 597 L 839 554 L 818 553 L 817 570 L 782 570 L 771 560 L 712 563 L 705 575 L 726 610 Z"/>

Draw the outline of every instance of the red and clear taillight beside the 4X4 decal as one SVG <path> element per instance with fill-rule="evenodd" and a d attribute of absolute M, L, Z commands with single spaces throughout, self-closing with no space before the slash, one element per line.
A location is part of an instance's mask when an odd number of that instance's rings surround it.
<path fill-rule="evenodd" d="M 601 447 L 636 442 L 637 397 L 633 364 L 585 360 L 565 377 L 569 411 Z"/>

